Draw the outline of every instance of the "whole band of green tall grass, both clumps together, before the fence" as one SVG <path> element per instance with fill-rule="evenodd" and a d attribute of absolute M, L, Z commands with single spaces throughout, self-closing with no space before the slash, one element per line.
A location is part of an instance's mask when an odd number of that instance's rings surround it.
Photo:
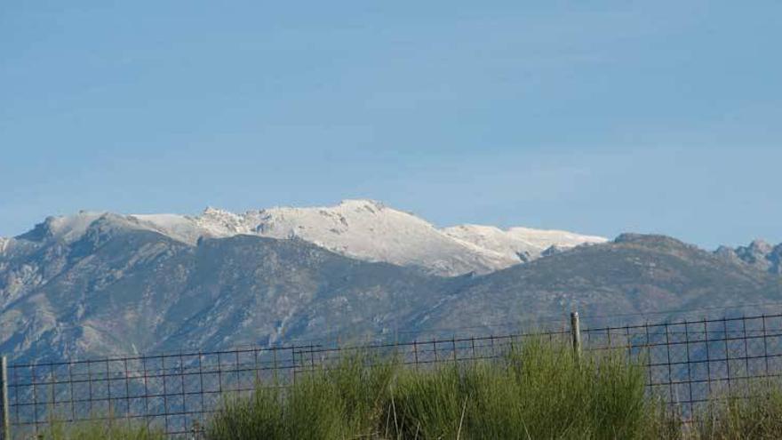
<path fill-rule="evenodd" d="M 289 388 L 227 400 L 207 438 L 663 438 L 660 408 L 626 359 L 577 363 L 567 345 L 531 340 L 499 362 L 422 371 L 347 356 Z"/>

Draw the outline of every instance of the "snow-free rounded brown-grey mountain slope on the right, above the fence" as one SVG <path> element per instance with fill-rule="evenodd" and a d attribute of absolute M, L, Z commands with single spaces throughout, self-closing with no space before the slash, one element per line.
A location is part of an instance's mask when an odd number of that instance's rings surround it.
<path fill-rule="evenodd" d="M 534 326 L 572 310 L 626 322 L 628 314 L 770 302 L 782 302 L 782 277 L 670 237 L 626 234 L 475 278 L 433 310 L 426 326 Z"/>

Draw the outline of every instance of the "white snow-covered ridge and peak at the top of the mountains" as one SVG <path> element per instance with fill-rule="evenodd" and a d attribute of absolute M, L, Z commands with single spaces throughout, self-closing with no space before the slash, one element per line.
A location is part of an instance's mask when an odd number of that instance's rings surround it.
<path fill-rule="evenodd" d="M 46 220 L 46 234 L 73 241 L 101 216 L 125 227 L 154 230 L 195 244 L 202 236 L 236 235 L 298 238 L 340 254 L 368 261 L 417 266 L 442 276 L 485 274 L 538 258 L 551 246 L 570 248 L 603 243 L 599 236 L 531 228 L 463 225 L 435 228 L 427 220 L 370 200 L 346 200 L 331 207 L 279 207 L 242 214 L 207 208 L 199 216 L 100 212 Z"/>

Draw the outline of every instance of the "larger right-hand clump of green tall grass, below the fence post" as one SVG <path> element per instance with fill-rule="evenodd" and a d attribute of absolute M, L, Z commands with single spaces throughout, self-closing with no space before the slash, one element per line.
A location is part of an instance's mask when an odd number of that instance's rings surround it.
<path fill-rule="evenodd" d="M 504 362 L 403 371 L 390 389 L 402 438 L 658 438 L 640 367 L 606 353 L 579 363 L 530 341 Z"/>

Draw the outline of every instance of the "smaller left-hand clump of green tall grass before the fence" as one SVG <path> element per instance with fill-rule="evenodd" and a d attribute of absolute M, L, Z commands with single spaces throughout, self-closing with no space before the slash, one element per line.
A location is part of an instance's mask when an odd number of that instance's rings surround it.
<path fill-rule="evenodd" d="M 291 387 L 227 399 L 207 427 L 207 438 L 378 438 L 396 371 L 393 360 L 380 362 L 361 352 L 345 356 L 331 368 L 299 375 Z"/>

